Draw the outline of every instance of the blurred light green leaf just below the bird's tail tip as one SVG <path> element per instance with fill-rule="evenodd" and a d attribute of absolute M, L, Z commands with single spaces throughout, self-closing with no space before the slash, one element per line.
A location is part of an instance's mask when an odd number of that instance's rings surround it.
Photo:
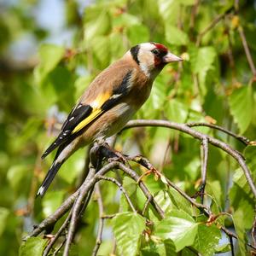
<path fill-rule="evenodd" d="M 63 201 L 64 191 L 48 191 L 43 198 L 43 212 L 44 217 L 48 217 L 50 214 L 61 206 Z"/>

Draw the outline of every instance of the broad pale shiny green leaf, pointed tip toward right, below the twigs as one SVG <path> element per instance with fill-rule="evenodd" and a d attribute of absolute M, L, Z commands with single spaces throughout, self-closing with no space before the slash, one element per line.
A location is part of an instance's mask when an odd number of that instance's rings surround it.
<path fill-rule="evenodd" d="M 183 210 L 174 210 L 156 225 L 155 236 L 163 240 L 171 239 L 178 252 L 194 243 L 197 226 L 198 224 L 188 213 Z"/>

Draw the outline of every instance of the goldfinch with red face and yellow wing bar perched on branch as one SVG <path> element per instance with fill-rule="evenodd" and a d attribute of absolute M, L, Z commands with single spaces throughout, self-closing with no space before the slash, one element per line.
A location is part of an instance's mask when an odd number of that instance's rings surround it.
<path fill-rule="evenodd" d="M 118 133 L 148 99 L 154 79 L 166 64 L 183 61 L 165 45 L 148 42 L 131 47 L 96 76 L 68 114 L 60 134 L 42 155 L 57 148 L 38 189 L 44 196 L 61 165 L 77 149 Z"/>

